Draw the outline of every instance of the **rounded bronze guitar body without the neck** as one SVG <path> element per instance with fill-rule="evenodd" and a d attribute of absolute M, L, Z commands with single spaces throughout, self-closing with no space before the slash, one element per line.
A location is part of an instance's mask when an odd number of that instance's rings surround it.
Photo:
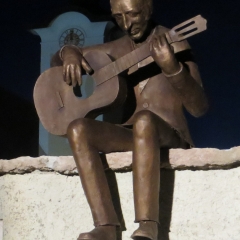
<path fill-rule="evenodd" d="M 94 71 L 111 63 L 107 54 L 91 51 L 84 58 Z M 34 87 L 34 103 L 44 128 L 54 135 L 65 135 L 68 125 L 78 118 L 96 118 L 126 98 L 125 81 L 115 76 L 101 84 L 94 78 L 95 90 L 88 98 L 76 97 L 72 86 L 63 79 L 62 67 L 43 72 Z"/>

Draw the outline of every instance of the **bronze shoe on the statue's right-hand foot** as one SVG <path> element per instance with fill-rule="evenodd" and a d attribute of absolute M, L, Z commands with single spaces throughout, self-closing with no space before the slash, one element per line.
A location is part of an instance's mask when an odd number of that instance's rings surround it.
<path fill-rule="evenodd" d="M 158 224 L 153 221 L 141 221 L 139 228 L 131 236 L 132 239 L 137 239 L 138 237 L 157 240 Z"/>

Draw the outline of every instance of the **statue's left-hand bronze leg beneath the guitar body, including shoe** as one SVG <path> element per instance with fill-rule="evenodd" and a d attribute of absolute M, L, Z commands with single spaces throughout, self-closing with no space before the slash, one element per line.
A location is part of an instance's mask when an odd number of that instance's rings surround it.
<path fill-rule="evenodd" d="M 99 152 L 132 150 L 132 131 L 84 118 L 75 120 L 69 125 L 68 139 L 92 211 L 94 225 L 96 227 L 119 225 Z M 95 229 L 90 235 L 80 235 L 79 239 L 88 239 L 95 235 L 98 236 L 96 239 L 100 240 L 106 237 L 108 237 L 106 240 L 114 239 L 109 227 L 101 227 L 98 230 Z"/>

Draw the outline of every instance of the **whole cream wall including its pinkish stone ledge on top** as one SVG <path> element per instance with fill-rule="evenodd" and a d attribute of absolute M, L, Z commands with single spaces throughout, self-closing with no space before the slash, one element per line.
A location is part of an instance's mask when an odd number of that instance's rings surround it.
<path fill-rule="evenodd" d="M 131 153 L 102 158 L 122 228 L 127 228 L 119 239 L 128 240 L 137 228 Z M 162 158 L 159 239 L 239 240 L 240 147 L 176 149 Z M 0 160 L 0 174 L 4 240 L 76 240 L 93 228 L 72 157 Z"/>

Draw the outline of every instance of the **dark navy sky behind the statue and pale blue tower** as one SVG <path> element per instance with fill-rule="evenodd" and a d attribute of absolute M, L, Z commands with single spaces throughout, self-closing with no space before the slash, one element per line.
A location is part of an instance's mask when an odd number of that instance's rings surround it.
<path fill-rule="evenodd" d="M 40 73 L 40 38 L 28 30 L 51 20 L 58 11 L 73 9 L 74 5 L 81 9 L 95 6 L 90 12 L 104 19 L 110 12 L 108 1 L 9 0 L 4 5 L 1 3 L 0 88 L 32 103 L 34 83 Z M 239 10 L 238 0 L 154 1 L 153 18 L 166 27 L 198 14 L 208 20 L 208 30 L 189 40 L 210 102 L 204 117 L 187 116 L 197 147 L 225 149 L 240 145 Z"/>

